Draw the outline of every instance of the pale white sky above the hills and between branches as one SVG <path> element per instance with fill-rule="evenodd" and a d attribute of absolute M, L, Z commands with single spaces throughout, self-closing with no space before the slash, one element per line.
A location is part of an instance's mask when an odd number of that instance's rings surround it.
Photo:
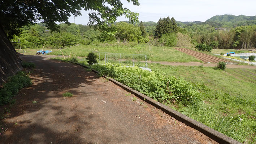
<path fill-rule="evenodd" d="M 176 21 L 206 21 L 214 15 L 256 15 L 256 0 L 139 0 L 140 6 L 134 6 L 122 0 L 123 7 L 139 13 L 139 21 L 157 22 L 159 18 L 174 17 Z M 75 18 L 76 24 L 88 23 L 88 11 Z M 118 21 L 127 21 L 118 17 Z M 73 16 L 69 22 L 74 22 Z"/>

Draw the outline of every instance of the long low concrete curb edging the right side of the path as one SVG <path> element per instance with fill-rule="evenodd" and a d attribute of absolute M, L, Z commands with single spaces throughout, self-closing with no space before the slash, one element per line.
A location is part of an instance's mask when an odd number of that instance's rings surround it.
<path fill-rule="evenodd" d="M 70 62 L 70 61 L 69 61 Z M 87 66 L 84 66 L 82 64 L 79 64 L 79 63 L 75 63 L 75 62 L 70 62 L 70 63 L 74 63 L 74 64 L 77 64 L 79 66 L 82 66 L 82 67 L 85 67 L 85 68 L 88 68 L 88 69 L 91 69 Z M 98 71 L 92 69 L 93 72 L 95 73 L 99 73 Z M 105 78 L 107 78 L 107 76 L 103 76 Z M 217 141 L 218 143 L 220 144 L 242 144 L 240 143 L 239 141 L 236 141 L 224 134 L 221 134 L 220 132 L 216 131 L 216 130 L 213 130 L 212 128 L 196 121 L 196 120 L 193 120 L 192 118 L 188 117 L 188 116 L 185 116 L 184 114 L 182 113 L 179 113 L 177 111 L 174 111 L 173 109 L 167 107 L 166 105 L 164 104 L 161 104 L 159 102 L 157 102 L 156 100 L 153 100 L 151 98 L 149 98 L 148 96 L 126 86 L 126 85 L 123 85 L 121 82 L 118 82 L 116 80 L 114 80 L 113 78 L 109 78 L 109 81 L 113 82 L 114 84 L 120 86 L 122 89 L 128 91 L 129 93 L 131 94 L 134 94 L 135 96 L 137 96 L 138 98 L 144 100 L 145 102 L 153 105 L 154 107 L 162 110 L 163 112 L 165 112 L 166 114 L 169 114 L 170 116 L 174 117 L 175 119 L 177 119 L 178 121 L 180 122 L 183 122 L 185 123 L 186 125 L 202 132 L 203 134 L 207 135 L 209 138 Z"/>

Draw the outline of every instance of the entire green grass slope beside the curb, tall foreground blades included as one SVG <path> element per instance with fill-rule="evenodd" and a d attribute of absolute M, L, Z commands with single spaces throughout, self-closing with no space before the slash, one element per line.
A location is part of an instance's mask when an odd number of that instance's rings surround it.
<path fill-rule="evenodd" d="M 153 71 L 183 77 L 203 93 L 205 104 L 187 105 L 187 110 L 173 107 L 205 125 L 240 142 L 255 139 L 256 69 L 164 66 L 150 64 Z M 205 87 L 206 86 L 206 87 Z"/>

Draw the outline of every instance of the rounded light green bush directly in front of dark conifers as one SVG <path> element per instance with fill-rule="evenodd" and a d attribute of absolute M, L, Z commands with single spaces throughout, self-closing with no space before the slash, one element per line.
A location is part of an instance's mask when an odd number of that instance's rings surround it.
<path fill-rule="evenodd" d="M 158 40 L 158 42 L 162 46 L 174 47 L 177 45 L 176 33 L 163 34 Z"/>

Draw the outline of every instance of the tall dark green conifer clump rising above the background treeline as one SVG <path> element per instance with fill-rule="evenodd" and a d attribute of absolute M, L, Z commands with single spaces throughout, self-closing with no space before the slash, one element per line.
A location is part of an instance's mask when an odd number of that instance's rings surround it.
<path fill-rule="evenodd" d="M 159 38 L 166 33 L 177 33 L 178 28 L 175 19 L 160 18 L 156 25 L 155 37 Z"/>

